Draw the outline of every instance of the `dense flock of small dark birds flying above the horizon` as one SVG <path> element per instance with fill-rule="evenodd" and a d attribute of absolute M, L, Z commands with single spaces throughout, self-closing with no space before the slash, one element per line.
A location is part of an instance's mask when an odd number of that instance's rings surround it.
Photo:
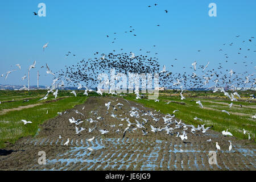
<path fill-rule="evenodd" d="M 156 7 L 158 4 L 148 5 L 148 8 Z M 168 10 L 164 10 L 165 13 L 168 13 Z M 34 15 L 37 15 L 34 12 Z M 160 26 L 159 24 L 157 26 Z M 134 36 L 137 36 L 134 32 L 135 29 L 130 26 L 130 30 L 125 31 L 125 33 L 130 32 Z M 114 32 L 114 35 L 117 35 L 117 32 Z M 107 38 L 110 38 L 109 35 L 106 35 Z M 199 88 L 207 88 L 210 85 L 210 81 L 212 84 L 214 83 L 215 87 L 218 86 L 229 86 L 234 89 L 240 88 L 254 88 L 256 78 L 253 78 L 254 73 L 249 74 L 247 71 L 240 73 L 239 70 L 233 71 L 232 65 L 229 63 L 229 68 L 224 68 L 224 63 L 228 63 L 229 55 L 225 52 L 225 46 L 233 46 L 237 48 L 238 55 L 241 55 L 240 64 L 243 63 L 244 67 L 255 67 L 253 65 L 255 63 L 253 57 L 249 57 L 249 53 L 255 53 L 256 51 L 251 51 L 251 47 L 255 46 L 253 44 L 254 37 L 251 36 L 246 40 L 238 40 L 240 39 L 240 35 L 236 36 L 236 43 L 224 43 L 219 52 L 224 52 L 223 60 L 218 63 L 217 68 L 210 68 L 209 61 L 204 61 L 201 65 L 198 65 L 196 68 L 196 61 L 192 64 L 193 67 L 192 72 L 183 72 L 183 73 L 174 73 L 166 71 L 166 66 L 164 65 L 163 71 L 160 71 L 160 64 L 158 62 L 158 58 L 155 56 L 149 56 L 150 51 L 146 51 L 146 55 L 140 53 L 139 55 L 134 55 L 134 53 L 125 53 L 121 48 L 121 53 L 117 53 L 117 51 L 113 50 L 110 53 L 99 53 L 97 51 L 94 53 L 94 58 L 90 58 L 88 60 L 82 59 L 77 64 L 72 64 L 69 66 L 65 66 L 65 69 L 61 69 L 59 71 L 59 77 L 64 77 L 68 84 L 73 84 L 76 86 L 80 82 L 84 82 L 86 86 L 95 86 L 100 80 L 97 80 L 97 76 L 100 73 L 109 73 L 110 69 L 114 68 L 116 73 L 159 73 L 159 81 L 160 86 L 164 86 L 165 88 L 177 88 L 177 86 L 183 86 L 183 88 L 189 89 L 199 89 Z M 113 42 L 117 40 L 117 38 L 113 39 Z M 237 42 L 241 41 L 241 44 Z M 248 43 L 248 44 L 246 44 Z M 241 48 L 243 46 L 247 46 L 247 48 Z M 155 47 L 155 45 L 154 45 Z M 142 49 L 139 49 L 142 51 Z M 201 50 L 197 50 L 197 52 L 201 52 Z M 157 55 L 158 52 L 155 53 Z M 75 54 L 70 51 L 65 54 L 65 56 Z M 131 56 L 130 56 L 131 55 Z M 170 60 L 171 61 L 171 60 Z M 174 63 L 178 61 L 177 58 L 174 59 Z M 208 63 L 207 63 L 208 62 Z M 237 64 L 238 61 L 235 61 L 233 64 Z M 167 68 L 174 68 L 174 63 L 170 63 L 167 65 Z M 208 67 L 209 65 L 209 67 Z M 185 68 L 185 67 L 183 67 Z M 201 70 L 201 72 L 199 72 Z M 56 78 L 56 77 L 55 77 Z M 72 82 L 72 83 L 71 83 Z"/>

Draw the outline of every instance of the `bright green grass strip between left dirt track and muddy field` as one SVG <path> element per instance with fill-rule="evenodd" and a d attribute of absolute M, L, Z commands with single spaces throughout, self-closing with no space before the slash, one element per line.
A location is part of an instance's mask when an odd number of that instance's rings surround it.
<path fill-rule="evenodd" d="M 44 90 L 44 92 L 46 92 Z M 71 109 L 75 105 L 83 104 L 86 96 L 71 96 L 56 102 L 49 102 L 39 106 L 19 111 L 10 111 L 0 115 L 0 148 L 5 147 L 6 142 L 15 143 L 21 137 L 34 136 L 39 125 L 50 118 L 57 116 L 57 112 Z M 48 114 L 47 113 L 48 110 Z M 24 125 L 21 119 L 31 121 Z"/>

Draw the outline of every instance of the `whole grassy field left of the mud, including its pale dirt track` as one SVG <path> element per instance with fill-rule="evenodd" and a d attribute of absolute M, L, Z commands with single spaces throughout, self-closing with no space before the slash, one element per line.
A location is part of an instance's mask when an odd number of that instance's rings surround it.
<path fill-rule="evenodd" d="M 44 92 L 31 90 L 29 94 L 22 92 L 20 95 L 16 95 L 15 92 L 10 91 L 9 98 L 11 98 L 11 100 L 5 99 L 4 101 L 12 101 L 13 99 L 16 101 L 2 103 L 0 105 L 0 113 L 3 109 L 15 109 L 19 106 L 34 104 L 41 105 L 0 114 L 0 148 L 5 147 L 5 142 L 14 143 L 21 137 L 34 136 L 38 131 L 39 125 L 47 121 L 47 119 L 56 117 L 57 112 L 63 112 L 67 109 L 71 109 L 75 105 L 84 103 L 87 97 L 82 95 L 81 92 L 77 93 L 77 97 L 75 97 L 67 91 L 60 91 L 57 99 L 63 99 L 57 100 L 56 102 L 47 102 L 55 100 L 55 98 L 51 94 L 47 100 L 39 101 L 39 99 L 46 94 L 46 90 L 44 90 Z M 5 96 L 1 95 L 0 97 L 2 99 Z M 29 102 L 23 102 L 23 100 L 31 97 L 32 99 Z M 46 114 L 47 110 L 48 114 Z M 32 123 L 24 125 L 21 119 L 31 121 Z"/>

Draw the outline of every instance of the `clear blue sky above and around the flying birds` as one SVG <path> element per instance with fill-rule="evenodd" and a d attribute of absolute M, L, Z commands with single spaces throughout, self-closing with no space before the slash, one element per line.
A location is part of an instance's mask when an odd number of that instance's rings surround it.
<path fill-rule="evenodd" d="M 34 16 L 38 4 L 46 4 L 46 17 Z M 208 15 L 209 3 L 216 3 L 217 17 Z M 157 3 L 158 6 L 154 6 Z M 151 7 L 148 7 L 151 5 Z M 31 85 L 36 85 L 36 72 L 39 71 L 40 85 L 50 85 L 53 72 L 64 65 L 94 57 L 93 53 L 109 53 L 123 48 L 124 52 L 135 55 L 151 51 L 161 65 L 172 72 L 192 72 L 189 67 L 193 61 L 217 68 L 224 63 L 224 52 L 228 53 L 227 69 L 237 72 L 254 72 L 256 36 L 256 1 L 1 1 L 0 2 L 0 73 L 22 66 L 21 71 L 13 72 L 7 80 L 0 77 L 0 84 L 27 84 L 21 77 L 36 60 L 36 69 L 31 71 Z M 168 10 L 165 13 L 164 10 Z M 160 26 L 156 26 L 159 24 Z M 125 34 L 132 26 L 133 33 Z M 117 32 L 117 35 L 114 35 Z M 109 38 L 106 38 L 109 35 Z M 239 38 L 236 38 L 240 35 Z M 111 43 L 114 38 L 115 43 Z M 242 44 L 242 40 L 246 40 Z M 43 45 L 49 42 L 43 51 Z M 233 42 L 233 46 L 223 46 Z M 156 47 L 153 47 L 156 45 Z M 237 54 L 238 47 L 250 48 L 251 52 Z M 139 51 L 142 49 L 142 51 Z M 197 50 L 201 50 L 197 52 Z M 65 57 L 71 51 L 75 57 Z M 243 59 L 247 55 L 247 59 Z M 174 59 L 177 58 L 177 61 Z M 243 60 L 250 67 L 242 67 Z M 237 61 L 238 64 L 231 64 Z M 170 67 L 173 64 L 174 68 Z M 251 66 L 253 65 L 253 67 Z M 183 66 L 186 69 L 183 69 Z"/>

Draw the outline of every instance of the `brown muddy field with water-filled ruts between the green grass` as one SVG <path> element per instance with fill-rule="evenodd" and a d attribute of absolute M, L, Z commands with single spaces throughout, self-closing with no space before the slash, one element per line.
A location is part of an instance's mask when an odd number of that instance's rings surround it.
<path fill-rule="evenodd" d="M 109 110 L 105 103 L 111 101 Z M 118 103 L 122 105 L 117 105 Z M 82 108 L 84 107 L 84 110 Z M 115 108 L 114 108 L 115 107 Z M 131 107 L 136 108 L 140 117 L 131 116 Z M 81 112 L 77 114 L 74 110 Z M 135 111 L 134 110 L 134 111 Z M 152 111 L 159 121 L 153 121 Z M 112 117 L 114 114 L 114 117 Z M 172 114 L 172 111 L 170 111 Z M 76 134 L 75 123 L 71 118 L 81 119 L 77 127 L 85 130 Z M 100 119 L 97 119 L 101 117 Z M 136 102 L 117 97 L 90 97 L 85 104 L 77 105 L 67 113 L 49 119 L 40 126 L 35 137 L 26 137 L 15 144 L 8 144 L 5 150 L 0 150 L 1 170 L 255 170 L 255 145 L 249 140 L 238 140 L 235 137 L 224 137 L 221 133 L 208 130 L 206 133 L 186 131 L 188 139 L 176 137 L 184 128 L 153 133 L 150 125 L 164 127 L 162 117 L 165 115 Z M 98 122 L 90 123 L 92 118 Z M 147 135 L 142 135 L 142 129 L 127 132 L 122 139 L 127 121 L 142 123 Z M 175 118 L 174 118 L 175 119 Z M 173 120 L 174 120 L 173 119 Z M 179 119 L 176 118 L 177 121 Z M 185 121 L 183 121 L 185 122 Z M 115 125 L 115 126 L 113 126 Z M 175 123 L 170 127 L 174 128 Z M 94 129 L 91 133 L 89 128 Z M 106 129 L 109 133 L 101 134 L 98 129 Z M 119 132 L 117 130 L 119 129 Z M 59 136 L 61 135 L 61 139 Z M 96 137 L 92 142 L 87 140 Z M 64 143 L 69 138 L 68 146 Z M 207 142 L 208 139 L 211 142 Z M 229 142 L 232 150 L 229 151 Z M 216 150 L 216 143 L 221 150 Z M 91 150 L 89 150 L 91 149 Z M 39 151 L 46 152 L 46 164 L 38 164 Z M 208 162 L 209 151 L 217 151 L 217 165 Z"/>

